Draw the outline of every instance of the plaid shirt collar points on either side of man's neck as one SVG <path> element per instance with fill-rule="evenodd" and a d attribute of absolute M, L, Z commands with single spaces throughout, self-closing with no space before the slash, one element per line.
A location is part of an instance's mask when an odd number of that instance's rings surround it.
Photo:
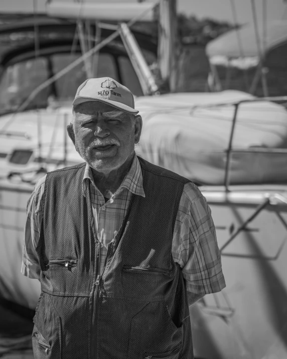
<path fill-rule="evenodd" d="M 82 185 L 84 196 L 86 194 L 86 190 L 87 190 L 89 181 L 91 181 L 91 183 L 96 187 L 96 185 L 94 183 L 91 167 L 88 164 L 86 164 L 85 173 L 84 173 L 84 177 L 83 177 L 83 185 Z M 125 187 L 130 192 L 132 192 L 134 194 L 137 194 L 142 197 L 146 197 L 142 182 L 143 181 L 142 181 L 142 173 L 141 173 L 140 163 L 136 157 L 136 154 L 134 153 L 131 167 L 130 167 L 128 173 L 126 174 L 126 176 L 124 177 L 117 192 L 122 187 Z"/>

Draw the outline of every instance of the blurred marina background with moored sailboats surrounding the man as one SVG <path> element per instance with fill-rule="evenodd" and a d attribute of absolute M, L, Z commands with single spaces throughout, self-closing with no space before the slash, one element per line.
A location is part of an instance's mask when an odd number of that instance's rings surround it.
<path fill-rule="evenodd" d="M 109 76 L 143 118 L 136 153 L 212 210 L 227 287 L 190 308 L 195 357 L 287 357 L 286 60 L 283 0 L 0 2 L 0 356 L 33 358 L 27 200 L 47 171 L 82 162 L 72 101 Z"/>

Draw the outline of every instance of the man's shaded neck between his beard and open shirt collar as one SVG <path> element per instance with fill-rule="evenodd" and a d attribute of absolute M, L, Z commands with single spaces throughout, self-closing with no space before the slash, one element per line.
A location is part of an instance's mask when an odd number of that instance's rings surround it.
<path fill-rule="evenodd" d="M 130 170 L 132 160 L 133 156 L 128 158 L 119 168 L 110 172 L 98 172 L 91 168 L 95 185 L 104 197 L 111 198 L 117 191 Z"/>

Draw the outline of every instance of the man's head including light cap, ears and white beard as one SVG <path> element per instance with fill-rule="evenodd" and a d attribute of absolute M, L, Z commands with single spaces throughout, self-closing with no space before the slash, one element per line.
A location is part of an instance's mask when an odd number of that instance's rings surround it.
<path fill-rule="evenodd" d="M 100 91 L 99 85 L 107 87 Z M 111 90 L 121 96 L 110 95 Z M 67 128 L 68 134 L 80 156 L 92 168 L 109 173 L 133 157 L 142 122 L 126 87 L 110 78 L 89 79 L 79 87 L 73 105 L 73 122 Z"/>

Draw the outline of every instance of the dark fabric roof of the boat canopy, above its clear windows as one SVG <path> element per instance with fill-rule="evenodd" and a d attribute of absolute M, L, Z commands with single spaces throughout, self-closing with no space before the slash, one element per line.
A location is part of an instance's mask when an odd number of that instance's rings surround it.
<path fill-rule="evenodd" d="M 4 17 L 2 16 L 2 19 Z M 1 17 L 0 17 L 1 19 Z M 6 67 L 16 62 L 37 56 L 49 56 L 55 53 L 80 53 L 80 42 L 76 33 L 76 22 L 63 19 L 51 19 L 46 16 L 24 17 L 20 20 L 7 19 L 0 25 L 0 66 Z M 5 21 L 2 21 L 5 22 Z M 90 24 L 91 36 L 95 35 L 95 24 Z M 101 40 L 113 30 L 101 29 Z M 132 30 L 139 46 L 144 51 L 157 53 L 157 36 Z M 36 46 L 35 46 L 36 44 Z M 73 46 L 73 49 L 72 49 Z M 120 37 L 105 46 L 101 52 L 113 56 L 127 56 Z"/>

